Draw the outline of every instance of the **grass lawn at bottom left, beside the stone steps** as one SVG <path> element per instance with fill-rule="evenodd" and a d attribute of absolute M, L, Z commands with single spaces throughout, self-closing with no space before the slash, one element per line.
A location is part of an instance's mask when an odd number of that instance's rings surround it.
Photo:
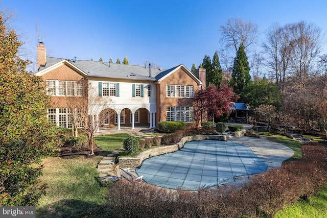
<path fill-rule="evenodd" d="M 43 160 L 42 182 L 48 184 L 46 196 L 36 207 L 36 217 L 69 217 L 106 204 L 107 184 L 99 180 L 97 163 L 102 157 Z"/>

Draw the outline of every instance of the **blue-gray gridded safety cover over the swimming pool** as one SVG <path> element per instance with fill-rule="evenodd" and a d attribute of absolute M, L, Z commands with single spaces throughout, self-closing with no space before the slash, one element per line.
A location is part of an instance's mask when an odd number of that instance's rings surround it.
<path fill-rule="evenodd" d="M 233 177 L 262 173 L 267 165 L 243 144 L 203 140 L 187 142 L 177 152 L 146 159 L 135 170 L 148 183 L 195 190 Z"/>

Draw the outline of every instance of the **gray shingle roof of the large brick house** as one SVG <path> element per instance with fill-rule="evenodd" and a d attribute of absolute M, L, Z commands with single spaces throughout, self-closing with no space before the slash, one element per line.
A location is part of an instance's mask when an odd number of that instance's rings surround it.
<path fill-rule="evenodd" d="M 45 66 L 41 66 L 40 70 L 48 68 L 64 59 L 46 57 Z M 150 77 L 150 68 L 138 65 L 125 65 L 125 64 L 116 64 L 100 61 L 86 61 L 86 60 L 74 60 L 66 59 L 69 63 L 73 64 L 83 72 L 88 77 L 101 77 L 101 78 L 116 78 L 116 79 L 135 79 L 135 80 L 150 80 L 155 81 L 158 75 L 164 74 L 167 75 L 172 69 L 162 70 L 151 68 L 151 77 Z M 169 71 L 169 72 L 166 72 Z M 162 77 L 162 76 L 161 76 Z M 160 78 L 161 78 L 160 77 Z"/>

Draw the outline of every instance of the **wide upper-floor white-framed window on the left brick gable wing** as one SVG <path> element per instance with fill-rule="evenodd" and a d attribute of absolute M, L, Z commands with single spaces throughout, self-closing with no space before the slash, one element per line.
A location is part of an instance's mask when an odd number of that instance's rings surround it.
<path fill-rule="evenodd" d="M 83 85 L 76 81 L 46 80 L 46 93 L 53 96 L 82 96 Z"/>

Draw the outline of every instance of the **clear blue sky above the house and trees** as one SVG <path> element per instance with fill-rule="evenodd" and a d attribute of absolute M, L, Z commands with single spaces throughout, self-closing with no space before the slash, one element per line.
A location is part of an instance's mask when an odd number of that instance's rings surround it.
<path fill-rule="evenodd" d="M 48 56 L 105 62 L 126 56 L 129 64 L 149 60 L 165 69 L 213 57 L 222 47 L 219 27 L 229 17 L 257 23 L 262 37 L 274 22 L 305 20 L 327 31 L 323 0 L 2 0 L 0 6 L 16 12 L 13 26 L 34 61 L 36 23 Z"/>

